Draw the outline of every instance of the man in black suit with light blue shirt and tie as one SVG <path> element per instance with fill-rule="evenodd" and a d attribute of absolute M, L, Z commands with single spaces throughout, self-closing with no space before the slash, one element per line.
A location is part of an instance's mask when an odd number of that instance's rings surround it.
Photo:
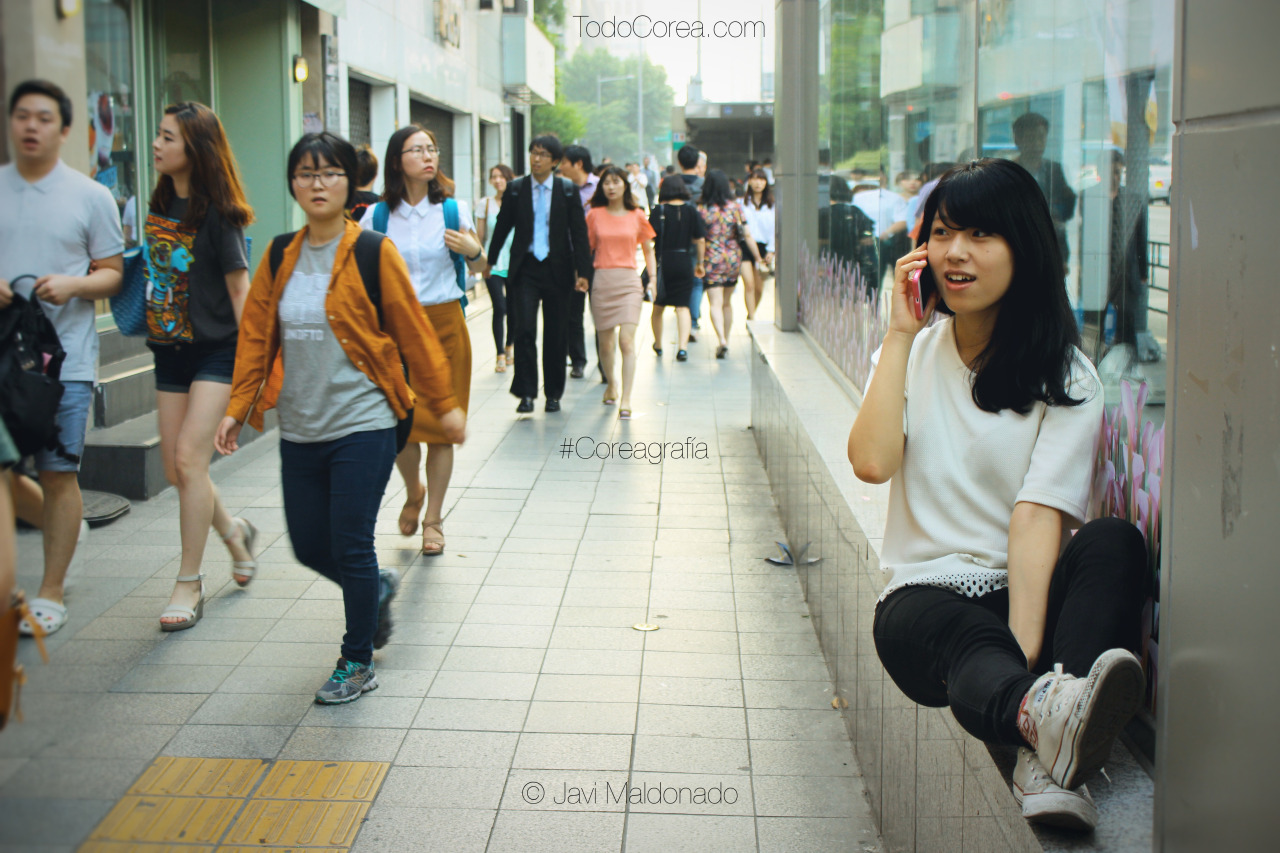
<path fill-rule="evenodd" d="M 543 383 L 547 411 L 559 411 L 564 393 L 564 350 L 568 305 L 575 289 L 586 292 L 591 250 L 577 187 L 554 175 L 564 155 L 554 136 L 529 143 L 530 173 L 507 184 L 489 242 L 489 264 L 498 260 L 512 228 L 507 287 L 515 286 L 516 377 L 511 393 L 517 412 L 534 410 L 538 397 L 538 304 L 543 306 Z M 575 277 L 576 270 L 576 277 Z"/>

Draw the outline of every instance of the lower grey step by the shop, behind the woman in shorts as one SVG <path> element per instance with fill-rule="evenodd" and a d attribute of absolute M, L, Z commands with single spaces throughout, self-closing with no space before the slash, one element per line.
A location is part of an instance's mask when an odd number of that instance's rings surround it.
<path fill-rule="evenodd" d="M 268 432 L 275 429 L 274 411 L 268 412 L 264 425 Z M 261 434 L 244 426 L 239 443 L 244 446 Z M 212 455 L 215 464 L 220 459 Z M 122 494 L 131 501 L 146 501 L 166 489 L 169 483 L 164 476 L 155 412 L 91 429 L 84 442 L 79 483 L 81 488 Z"/>

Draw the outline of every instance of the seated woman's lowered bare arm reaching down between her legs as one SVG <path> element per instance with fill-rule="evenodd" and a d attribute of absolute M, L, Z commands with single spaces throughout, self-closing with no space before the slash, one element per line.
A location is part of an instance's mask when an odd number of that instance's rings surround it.
<path fill-rule="evenodd" d="M 1062 514 L 1019 501 L 1009 519 L 1009 630 L 1036 666 L 1044 643 L 1048 587 L 1062 546 Z"/>

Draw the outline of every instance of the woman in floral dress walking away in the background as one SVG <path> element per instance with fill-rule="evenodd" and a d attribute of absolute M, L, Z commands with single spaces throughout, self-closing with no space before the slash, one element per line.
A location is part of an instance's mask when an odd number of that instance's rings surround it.
<path fill-rule="evenodd" d="M 759 264 L 760 252 L 751 229 L 742 215 L 742 205 L 728 191 L 728 177 L 719 169 L 707 173 L 698 214 L 707 229 L 707 301 L 710 302 L 712 327 L 719 346 L 716 357 L 728 356 L 728 336 L 733 329 L 733 288 L 742 268 L 742 245 Z"/>

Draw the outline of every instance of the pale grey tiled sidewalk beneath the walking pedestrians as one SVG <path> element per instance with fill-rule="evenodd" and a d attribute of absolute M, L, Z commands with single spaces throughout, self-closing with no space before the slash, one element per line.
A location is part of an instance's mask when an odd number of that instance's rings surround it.
<path fill-rule="evenodd" d="M 342 606 L 293 560 L 274 437 L 214 467 L 265 551 L 242 590 L 211 538 L 195 629 L 157 626 L 178 566 L 172 489 L 95 530 L 52 663 L 23 652 L 27 721 L 0 734 L 0 848 L 74 849 L 156 756 L 197 756 L 390 762 L 357 850 L 881 849 L 799 584 L 762 560 L 782 529 L 749 429 L 741 310 L 724 361 L 705 316 L 689 362 L 669 341 L 658 360 L 648 316 L 636 418 L 620 423 L 590 377 L 568 380 L 562 412 L 539 401 L 517 418 L 489 315 L 471 311 L 448 548 L 426 558 L 399 535 L 393 474 L 378 548 L 404 584 L 381 686 L 355 704 L 311 701 Z M 705 459 L 564 459 L 566 438 L 586 438 L 584 455 L 643 441 Z M 38 551 L 38 534 L 19 537 L 27 589 Z M 660 802 L 699 786 L 719 803 Z"/>

